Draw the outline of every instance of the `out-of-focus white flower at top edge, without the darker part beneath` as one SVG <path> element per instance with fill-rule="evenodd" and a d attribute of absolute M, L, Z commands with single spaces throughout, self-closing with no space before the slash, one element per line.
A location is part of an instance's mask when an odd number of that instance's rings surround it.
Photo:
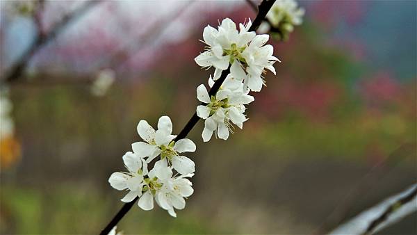
<path fill-rule="evenodd" d="M 305 10 L 298 8 L 297 1 L 294 0 L 277 0 L 266 15 L 272 26 L 278 27 L 279 24 L 286 22 L 288 24 L 300 25 L 302 24 L 302 17 Z M 290 32 L 293 29 L 289 30 Z"/>

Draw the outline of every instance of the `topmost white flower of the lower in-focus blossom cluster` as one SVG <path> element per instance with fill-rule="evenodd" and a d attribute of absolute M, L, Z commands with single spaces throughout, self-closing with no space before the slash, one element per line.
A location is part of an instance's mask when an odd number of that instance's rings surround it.
<path fill-rule="evenodd" d="M 132 149 L 141 157 L 147 156 L 147 163 L 161 154 L 161 161 L 172 165 L 180 174 L 189 174 L 195 171 L 195 163 L 186 156 L 179 155 L 183 152 L 195 152 L 195 144 L 188 138 L 173 141 L 176 136 L 172 135 L 170 117 L 159 118 L 157 131 L 145 120 L 140 120 L 137 129 L 139 136 L 145 142 L 133 143 Z"/>

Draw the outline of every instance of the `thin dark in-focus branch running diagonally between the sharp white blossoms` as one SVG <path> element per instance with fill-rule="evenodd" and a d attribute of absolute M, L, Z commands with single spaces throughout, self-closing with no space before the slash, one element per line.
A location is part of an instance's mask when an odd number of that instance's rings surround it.
<path fill-rule="evenodd" d="M 270 0 L 270 1 L 263 0 L 262 1 L 261 5 L 259 5 L 259 13 L 258 15 L 256 15 L 256 18 L 254 19 L 252 26 L 250 26 L 249 31 L 256 31 L 256 29 L 258 29 L 259 25 L 265 18 L 265 15 L 268 13 L 268 11 L 270 10 L 270 8 L 272 7 L 274 3 L 275 3 L 275 0 Z M 222 75 L 217 81 L 215 81 L 213 87 L 208 92 L 208 95 L 210 96 L 215 95 L 215 93 L 218 92 L 218 90 L 220 89 L 220 86 L 222 85 L 224 79 L 226 79 L 226 76 L 227 74 L 229 74 L 229 72 L 230 72 L 229 68 L 227 70 L 223 70 Z M 188 120 L 186 126 L 179 132 L 175 140 L 186 138 L 188 133 L 190 133 L 190 131 L 193 129 L 193 127 L 195 126 L 195 124 L 197 124 L 198 121 L 199 121 L 199 117 L 197 116 L 197 113 L 194 113 L 194 115 L 190 118 L 190 120 Z M 132 202 L 128 202 L 124 204 L 122 206 L 122 209 L 120 209 L 120 211 L 117 212 L 116 216 L 111 220 L 111 222 L 108 223 L 108 225 L 101 231 L 100 234 L 102 235 L 108 234 L 108 232 L 110 232 L 111 229 L 113 229 L 113 227 L 115 227 L 117 223 L 120 220 L 122 220 L 124 215 L 126 215 L 126 213 L 131 209 L 131 207 L 133 206 L 133 204 L 136 203 L 137 200 L 138 200 L 138 197 L 136 197 L 136 199 L 133 200 Z"/>

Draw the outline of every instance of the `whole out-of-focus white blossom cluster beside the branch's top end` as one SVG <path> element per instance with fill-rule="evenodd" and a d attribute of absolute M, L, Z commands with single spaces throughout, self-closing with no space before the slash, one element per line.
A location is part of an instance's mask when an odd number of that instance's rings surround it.
<path fill-rule="evenodd" d="M 269 24 L 263 22 L 259 31 L 270 31 L 272 26 L 274 28 L 272 32 L 278 32 L 272 35 L 277 35 L 281 40 L 288 40 L 290 33 L 294 31 L 294 26 L 302 24 L 304 13 L 304 8 L 299 8 L 297 1 L 277 0 L 266 15 Z"/>

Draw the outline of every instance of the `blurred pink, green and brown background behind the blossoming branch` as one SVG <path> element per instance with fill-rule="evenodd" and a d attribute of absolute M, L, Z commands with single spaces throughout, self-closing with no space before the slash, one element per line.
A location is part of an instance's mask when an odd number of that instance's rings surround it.
<path fill-rule="evenodd" d="M 124 234 L 323 234 L 416 182 L 416 1 L 299 3 L 244 129 L 191 131 L 186 209 L 134 206 Z M 1 234 L 97 234 L 122 206 L 107 180 L 139 120 L 170 115 L 178 133 L 195 112 L 213 73 L 193 60 L 204 26 L 255 15 L 245 1 L 1 0 L 1 76 L 21 73 L 1 84 Z M 416 216 L 380 233 L 416 234 Z"/>

